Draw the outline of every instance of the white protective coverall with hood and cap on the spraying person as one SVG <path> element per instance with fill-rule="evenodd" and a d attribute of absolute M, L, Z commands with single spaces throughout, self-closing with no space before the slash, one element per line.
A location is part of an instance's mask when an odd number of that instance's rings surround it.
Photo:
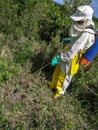
<path fill-rule="evenodd" d="M 80 6 L 77 8 L 75 14 L 71 16 L 74 21 L 83 20 L 83 24 L 78 24 L 75 22 L 70 28 L 70 35 L 74 37 L 74 41 L 70 50 L 65 53 L 61 53 L 61 62 L 60 68 L 66 73 L 65 80 L 63 82 L 62 90 L 60 94 L 64 94 L 67 87 L 69 86 L 71 79 L 76 72 L 71 71 L 72 67 L 72 58 L 76 54 L 87 50 L 95 41 L 95 32 L 92 29 L 94 23 L 92 21 L 93 10 L 90 6 Z"/>

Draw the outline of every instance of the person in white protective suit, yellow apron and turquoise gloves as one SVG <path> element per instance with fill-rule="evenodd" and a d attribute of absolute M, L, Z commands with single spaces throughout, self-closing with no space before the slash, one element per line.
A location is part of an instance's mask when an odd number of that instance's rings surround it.
<path fill-rule="evenodd" d="M 78 72 L 81 56 L 95 41 L 93 9 L 89 5 L 79 6 L 71 16 L 74 23 L 69 34 L 73 38 L 69 50 L 54 57 L 51 65 L 56 65 L 49 87 L 56 89 L 54 98 L 64 95 L 72 77 Z"/>

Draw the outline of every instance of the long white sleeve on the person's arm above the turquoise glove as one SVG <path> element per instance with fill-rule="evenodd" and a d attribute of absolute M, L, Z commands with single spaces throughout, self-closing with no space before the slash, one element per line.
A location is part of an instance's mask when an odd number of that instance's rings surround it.
<path fill-rule="evenodd" d="M 70 50 L 61 53 L 61 60 L 65 62 L 70 61 L 80 50 L 83 50 L 87 44 L 88 35 L 88 33 L 83 33 L 76 39 Z"/>

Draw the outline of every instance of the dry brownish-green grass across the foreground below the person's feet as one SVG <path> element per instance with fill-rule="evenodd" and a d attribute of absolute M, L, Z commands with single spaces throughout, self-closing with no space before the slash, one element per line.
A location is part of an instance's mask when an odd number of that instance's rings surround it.
<path fill-rule="evenodd" d="M 96 130 L 97 109 L 90 110 L 95 97 L 87 91 L 75 96 L 71 88 L 57 100 L 45 77 L 20 74 L 0 87 L 1 130 Z M 95 107 L 97 107 L 95 105 Z M 93 108 L 93 107 L 92 107 Z M 92 123 L 92 124 L 91 124 Z"/>

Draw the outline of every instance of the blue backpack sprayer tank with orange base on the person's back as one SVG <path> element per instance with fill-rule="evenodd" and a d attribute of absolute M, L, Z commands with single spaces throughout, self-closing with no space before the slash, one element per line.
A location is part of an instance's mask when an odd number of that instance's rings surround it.
<path fill-rule="evenodd" d="M 83 65 L 88 66 L 97 54 L 98 54 L 98 34 L 96 34 L 94 44 L 85 52 L 80 62 Z"/>

